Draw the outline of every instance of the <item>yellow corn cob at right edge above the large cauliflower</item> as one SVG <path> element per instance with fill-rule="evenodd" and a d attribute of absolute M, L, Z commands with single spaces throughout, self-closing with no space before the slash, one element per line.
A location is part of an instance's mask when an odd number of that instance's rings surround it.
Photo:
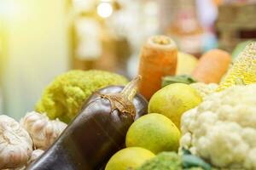
<path fill-rule="evenodd" d="M 234 85 L 247 85 L 256 82 L 256 42 L 250 42 L 239 54 L 234 65 L 217 88 L 222 91 Z"/>

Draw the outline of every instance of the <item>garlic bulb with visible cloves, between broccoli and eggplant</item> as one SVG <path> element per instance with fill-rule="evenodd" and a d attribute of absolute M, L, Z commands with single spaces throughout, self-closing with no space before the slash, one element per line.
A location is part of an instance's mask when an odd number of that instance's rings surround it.
<path fill-rule="evenodd" d="M 31 135 L 37 149 L 46 150 L 59 137 L 67 124 L 59 120 L 50 121 L 46 115 L 32 111 L 20 120 L 22 127 Z"/>

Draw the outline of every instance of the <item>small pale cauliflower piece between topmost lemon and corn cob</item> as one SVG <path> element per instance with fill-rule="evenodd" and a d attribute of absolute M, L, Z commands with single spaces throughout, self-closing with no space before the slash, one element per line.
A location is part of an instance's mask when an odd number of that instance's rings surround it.
<path fill-rule="evenodd" d="M 206 84 L 204 82 L 191 83 L 190 86 L 195 88 L 195 90 L 201 95 L 202 99 L 205 99 L 209 94 L 213 94 L 218 88 L 218 84 L 216 83 Z"/>

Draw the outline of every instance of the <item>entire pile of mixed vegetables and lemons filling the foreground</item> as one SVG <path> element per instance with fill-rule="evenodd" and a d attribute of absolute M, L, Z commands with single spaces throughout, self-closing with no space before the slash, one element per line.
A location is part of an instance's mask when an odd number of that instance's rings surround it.
<path fill-rule="evenodd" d="M 131 82 L 56 77 L 20 122 L 0 116 L 0 169 L 256 169 L 256 42 L 246 44 L 233 60 L 221 49 L 196 59 L 150 37 Z"/>

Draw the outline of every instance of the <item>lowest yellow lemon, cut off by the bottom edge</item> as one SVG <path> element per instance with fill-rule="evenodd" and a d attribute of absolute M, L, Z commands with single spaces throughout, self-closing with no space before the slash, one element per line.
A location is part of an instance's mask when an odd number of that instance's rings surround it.
<path fill-rule="evenodd" d="M 140 167 L 144 161 L 154 157 L 154 153 L 149 150 L 131 147 L 119 150 L 108 161 L 105 170 L 127 170 Z"/>

